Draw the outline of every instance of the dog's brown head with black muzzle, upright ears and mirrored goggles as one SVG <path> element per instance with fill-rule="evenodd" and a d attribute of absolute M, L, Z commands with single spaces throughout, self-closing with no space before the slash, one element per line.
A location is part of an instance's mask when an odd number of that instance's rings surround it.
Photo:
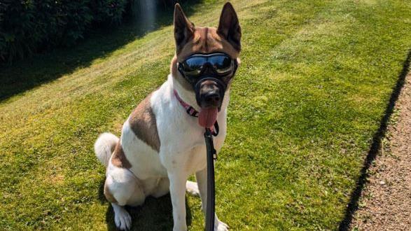
<path fill-rule="evenodd" d="M 223 6 L 218 28 L 195 27 L 176 4 L 176 55 L 171 71 L 174 87 L 183 100 L 199 111 L 221 109 L 239 64 L 241 35 L 231 3 Z"/>

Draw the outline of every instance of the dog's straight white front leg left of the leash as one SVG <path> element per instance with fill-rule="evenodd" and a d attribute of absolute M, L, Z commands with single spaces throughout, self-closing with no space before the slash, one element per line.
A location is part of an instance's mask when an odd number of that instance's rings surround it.
<path fill-rule="evenodd" d="M 187 230 L 186 224 L 186 181 L 188 176 L 183 172 L 169 172 L 170 195 L 173 204 L 174 231 Z"/>

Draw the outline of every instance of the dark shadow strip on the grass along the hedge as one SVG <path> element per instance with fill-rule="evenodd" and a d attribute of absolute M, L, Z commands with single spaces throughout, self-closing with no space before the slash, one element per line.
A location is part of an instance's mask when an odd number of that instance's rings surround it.
<path fill-rule="evenodd" d="M 149 2 L 146 1 L 147 4 Z M 194 12 L 194 6 L 201 2 L 184 1 L 182 6 L 186 14 L 190 15 Z M 73 48 L 34 55 L 13 65 L 0 64 L 0 102 L 43 83 L 50 83 L 76 69 L 90 66 L 94 59 L 106 57 L 136 38 L 172 25 L 173 8 L 147 7 L 150 10 L 138 10 L 134 17 L 116 29 L 90 31 L 88 38 Z"/>

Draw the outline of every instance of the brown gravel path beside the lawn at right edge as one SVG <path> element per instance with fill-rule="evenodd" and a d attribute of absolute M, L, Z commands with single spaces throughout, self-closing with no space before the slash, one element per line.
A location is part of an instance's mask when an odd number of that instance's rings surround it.
<path fill-rule="evenodd" d="M 386 137 L 368 169 L 352 230 L 410 230 L 411 74 L 396 103 Z"/>

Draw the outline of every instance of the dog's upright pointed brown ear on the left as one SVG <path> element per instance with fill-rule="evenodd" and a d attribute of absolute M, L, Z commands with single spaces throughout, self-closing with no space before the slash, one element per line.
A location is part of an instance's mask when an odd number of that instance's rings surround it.
<path fill-rule="evenodd" d="M 181 9 L 179 3 L 174 7 L 174 38 L 176 39 L 176 50 L 179 52 L 193 36 L 194 24 L 190 22 Z"/>

